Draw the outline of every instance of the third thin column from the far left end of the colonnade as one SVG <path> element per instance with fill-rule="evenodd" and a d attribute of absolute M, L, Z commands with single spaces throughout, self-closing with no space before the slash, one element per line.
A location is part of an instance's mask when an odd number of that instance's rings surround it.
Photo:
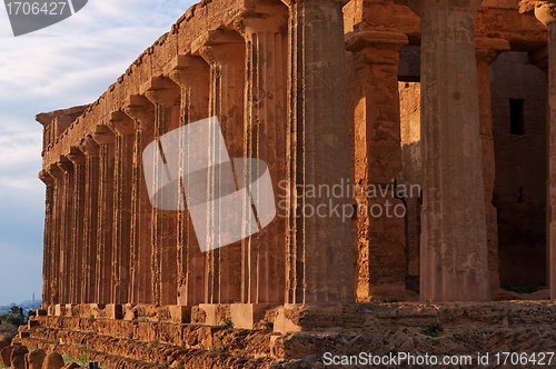
<path fill-rule="evenodd" d="M 66 157 L 60 157 L 58 168 L 62 171 L 63 191 L 61 196 L 60 211 L 60 303 L 70 303 L 70 281 L 72 276 L 71 270 L 71 253 L 72 245 L 72 226 L 73 226 L 73 164 Z"/>

